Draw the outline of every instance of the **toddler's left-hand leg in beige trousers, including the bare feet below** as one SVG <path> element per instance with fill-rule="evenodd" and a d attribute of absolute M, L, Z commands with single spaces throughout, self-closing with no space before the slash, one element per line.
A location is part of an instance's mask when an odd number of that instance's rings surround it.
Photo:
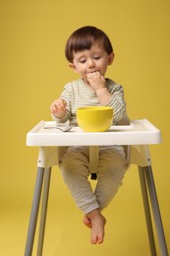
<path fill-rule="evenodd" d="M 96 244 L 103 242 L 106 221 L 87 180 L 88 164 L 88 153 L 76 148 L 69 149 L 60 161 L 64 180 L 77 205 L 85 213 L 84 224 L 91 228 L 90 242 Z"/>

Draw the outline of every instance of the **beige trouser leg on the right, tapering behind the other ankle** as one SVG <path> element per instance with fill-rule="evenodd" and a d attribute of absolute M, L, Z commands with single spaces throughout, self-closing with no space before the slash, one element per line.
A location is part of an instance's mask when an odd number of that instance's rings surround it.
<path fill-rule="evenodd" d="M 100 209 L 109 205 L 116 195 L 126 171 L 125 155 L 114 150 L 104 150 L 99 154 L 97 184 L 94 191 Z"/>

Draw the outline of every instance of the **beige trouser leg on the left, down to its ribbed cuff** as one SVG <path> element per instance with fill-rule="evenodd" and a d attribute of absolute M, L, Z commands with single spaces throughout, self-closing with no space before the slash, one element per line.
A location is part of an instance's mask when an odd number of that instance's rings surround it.
<path fill-rule="evenodd" d="M 83 149 L 83 150 L 82 150 Z M 88 150 L 71 147 L 60 160 L 60 168 L 63 178 L 78 207 L 85 213 L 98 209 L 99 205 L 90 186 L 88 178 Z"/>

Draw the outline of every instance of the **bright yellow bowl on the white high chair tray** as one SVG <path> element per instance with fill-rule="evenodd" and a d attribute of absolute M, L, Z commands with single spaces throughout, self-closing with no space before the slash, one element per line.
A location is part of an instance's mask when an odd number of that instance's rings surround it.
<path fill-rule="evenodd" d="M 85 106 L 77 109 L 78 125 L 85 132 L 105 132 L 112 125 L 113 108 Z"/>

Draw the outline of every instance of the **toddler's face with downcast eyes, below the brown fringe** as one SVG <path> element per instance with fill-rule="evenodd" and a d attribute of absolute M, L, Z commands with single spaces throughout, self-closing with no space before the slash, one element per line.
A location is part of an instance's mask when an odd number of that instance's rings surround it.
<path fill-rule="evenodd" d="M 88 84 L 86 75 L 98 71 L 104 76 L 107 66 L 112 63 L 113 59 L 113 53 L 108 55 L 102 44 L 95 42 L 88 50 L 74 52 L 74 60 L 73 63 L 70 63 L 70 67 L 79 73 L 85 83 Z"/>

